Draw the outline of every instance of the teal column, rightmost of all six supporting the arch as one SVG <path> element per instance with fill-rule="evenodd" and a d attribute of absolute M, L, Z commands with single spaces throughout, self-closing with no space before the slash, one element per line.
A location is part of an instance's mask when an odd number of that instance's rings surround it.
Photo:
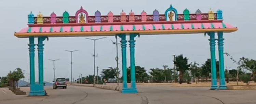
<path fill-rule="evenodd" d="M 225 81 L 225 69 L 224 69 L 224 42 L 223 32 L 218 32 L 218 49 L 219 49 L 219 89 L 228 89 Z"/>

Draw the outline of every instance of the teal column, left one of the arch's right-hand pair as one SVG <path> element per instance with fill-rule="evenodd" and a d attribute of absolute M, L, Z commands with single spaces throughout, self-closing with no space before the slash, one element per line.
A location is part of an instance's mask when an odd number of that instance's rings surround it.
<path fill-rule="evenodd" d="M 217 74 L 216 74 L 216 57 L 215 57 L 215 38 L 214 32 L 210 32 L 208 33 L 208 35 L 210 36 L 210 48 L 211 48 L 211 73 L 212 73 L 212 87 L 211 89 L 218 89 L 218 85 L 217 85 Z"/>

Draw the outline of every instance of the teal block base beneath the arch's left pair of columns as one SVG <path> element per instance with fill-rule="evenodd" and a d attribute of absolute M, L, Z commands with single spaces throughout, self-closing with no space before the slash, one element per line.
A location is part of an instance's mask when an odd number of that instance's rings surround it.
<path fill-rule="evenodd" d="M 44 90 L 44 86 L 42 84 L 35 84 L 30 86 L 29 96 L 46 96 L 47 93 Z"/>

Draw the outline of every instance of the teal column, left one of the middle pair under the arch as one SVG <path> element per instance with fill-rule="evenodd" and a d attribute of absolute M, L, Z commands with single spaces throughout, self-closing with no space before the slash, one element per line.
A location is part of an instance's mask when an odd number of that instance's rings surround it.
<path fill-rule="evenodd" d="M 123 90 L 122 93 L 125 93 L 127 90 L 127 68 L 126 68 L 126 35 L 119 34 L 117 35 L 121 38 L 121 48 L 122 48 L 122 68 L 123 68 Z"/>

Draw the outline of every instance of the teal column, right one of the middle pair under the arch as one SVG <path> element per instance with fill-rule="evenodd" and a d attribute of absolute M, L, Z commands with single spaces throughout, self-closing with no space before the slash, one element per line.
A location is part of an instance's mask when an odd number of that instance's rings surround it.
<path fill-rule="evenodd" d="M 130 34 L 130 60 L 131 60 L 131 84 L 132 88 L 130 90 L 130 93 L 138 93 L 138 90 L 136 88 L 136 72 L 135 72 L 135 53 L 134 53 L 134 47 L 135 47 L 135 40 L 134 38 L 139 34 Z"/>

